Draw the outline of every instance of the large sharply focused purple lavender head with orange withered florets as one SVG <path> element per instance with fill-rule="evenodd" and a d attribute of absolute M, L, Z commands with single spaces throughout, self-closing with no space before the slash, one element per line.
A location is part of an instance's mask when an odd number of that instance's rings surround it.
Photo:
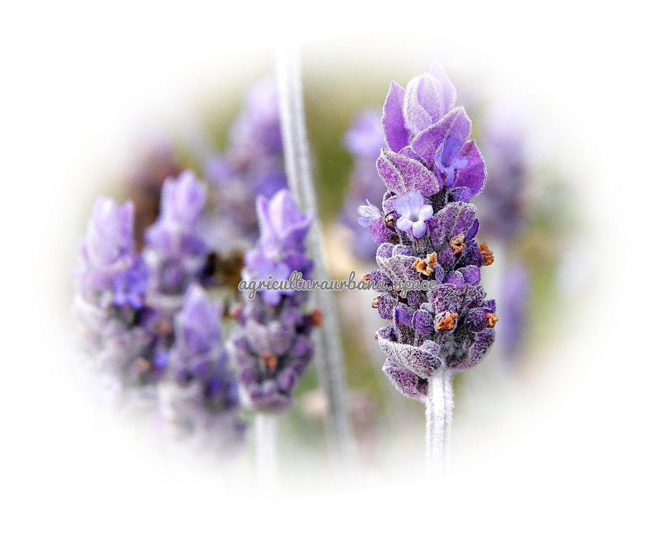
<path fill-rule="evenodd" d="M 388 191 L 382 210 L 363 205 L 361 223 L 379 244 L 375 283 L 434 279 L 436 289 L 403 297 L 383 291 L 372 306 L 392 324 L 376 334 L 387 355 L 383 370 L 405 395 L 424 401 L 438 369 L 461 371 L 485 357 L 494 342 L 496 302 L 486 299 L 480 269 L 493 255 L 475 236 L 475 205 L 485 162 L 469 140 L 471 121 L 455 106 L 456 91 L 434 63 L 406 89 L 391 83 L 383 106 L 387 149 L 377 170 Z"/>

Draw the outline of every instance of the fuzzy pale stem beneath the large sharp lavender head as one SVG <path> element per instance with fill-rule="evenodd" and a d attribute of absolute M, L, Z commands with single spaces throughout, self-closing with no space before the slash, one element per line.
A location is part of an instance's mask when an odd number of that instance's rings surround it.
<path fill-rule="evenodd" d="M 454 408 L 451 370 L 440 368 L 428 379 L 427 389 L 427 466 L 430 476 L 446 473 Z"/>

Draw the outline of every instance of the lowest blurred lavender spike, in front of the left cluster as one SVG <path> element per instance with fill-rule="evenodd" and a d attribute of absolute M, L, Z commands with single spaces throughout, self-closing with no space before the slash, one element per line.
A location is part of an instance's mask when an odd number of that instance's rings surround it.
<path fill-rule="evenodd" d="M 161 386 L 161 412 L 169 423 L 223 448 L 240 441 L 245 427 L 236 416 L 238 384 L 222 345 L 220 306 L 199 285 L 186 292 L 167 357 L 172 381 Z"/>

